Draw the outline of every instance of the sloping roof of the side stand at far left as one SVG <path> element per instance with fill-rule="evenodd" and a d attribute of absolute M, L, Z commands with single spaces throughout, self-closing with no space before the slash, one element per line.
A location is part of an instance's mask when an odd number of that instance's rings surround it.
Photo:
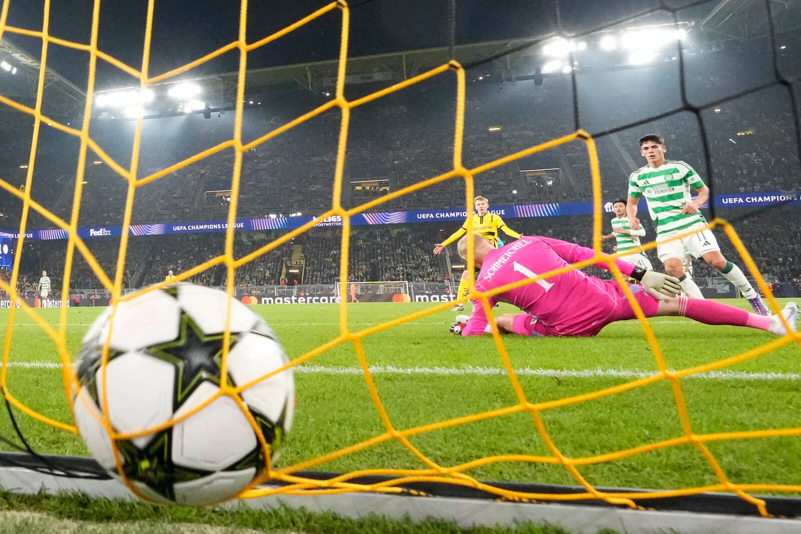
<path fill-rule="evenodd" d="M 36 105 L 39 67 L 37 58 L 14 45 L 8 38 L 0 39 L 0 61 L 6 62 L 9 70 L 0 70 L 0 94 L 25 106 Z M 42 98 L 42 112 L 50 117 L 68 117 L 83 108 L 86 92 L 47 67 L 45 70 L 45 89 Z M 13 112 L 9 106 L 0 105 L 0 118 Z"/>

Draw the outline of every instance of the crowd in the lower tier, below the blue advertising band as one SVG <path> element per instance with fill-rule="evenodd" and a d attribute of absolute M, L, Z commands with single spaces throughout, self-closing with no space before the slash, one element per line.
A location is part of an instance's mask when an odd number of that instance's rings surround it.
<path fill-rule="evenodd" d="M 735 230 L 743 239 L 760 272 L 771 280 L 780 280 L 798 287 L 801 283 L 801 221 L 795 216 L 797 207 L 783 207 L 763 212 L 754 219 L 735 223 Z M 735 212 L 735 215 L 736 212 Z M 605 214 L 602 232 L 610 231 L 611 214 Z M 592 246 L 592 218 L 590 216 L 537 217 L 507 219 L 513 230 L 524 235 L 545 235 L 582 246 Z M 652 239 L 654 227 L 643 219 L 647 235 Z M 441 242 L 457 229 L 456 223 L 384 225 L 352 227 L 349 245 L 348 279 L 351 281 L 442 282 L 450 279 L 448 263 L 461 266 L 464 262 L 456 255 L 456 247 L 449 247 L 449 256 L 433 255 L 435 243 Z M 743 260 L 727 235 L 714 230 L 724 255 L 743 265 Z M 254 251 L 263 251 L 283 231 L 237 232 L 234 240 L 234 257 L 239 259 Z M 501 239 L 507 239 L 501 235 Z M 647 238 L 646 238 L 647 239 Z M 507 239 L 508 240 L 508 239 Z M 114 238 L 87 239 L 87 246 L 110 279 L 114 278 L 119 240 Z M 225 235 L 207 233 L 195 235 L 160 235 L 131 237 L 127 248 L 123 287 L 143 287 L 160 282 L 167 271 L 185 272 L 211 259 L 223 255 Z M 342 250 L 341 227 L 316 227 L 289 239 L 270 250 L 256 255 L 235 270 L 237 287 L 292 284 L 294 280 L 284 269 L 288 259 L 303 259 L 302 274 L 298 283 L 332 285 L 340 279 Z M 603 243 L 604 251 L 613 251 L 613 242 Z M 63 241 L 34 241 L 26 243 L 22 252 L 20 273 L 21 291 L 32 294 L 38 273 L 48 271 L 53 287 L 62 283 L 66 243 Z M 655 251 L 647 251 L 654 267 L 659 269 Z M 590 268 L 593 275 L 609 278 L 606 271 Z M 459 267 L 454 267 L 458 277 Z M 3 273 L 7 281 L 8 273 Z M 701 260 L 694 262 L 694 277 L 719 276 Z M 189 281 L 207 286 L 224 286 L 227 268 L 223 262 L 215 263 L 191 276 Z M 72 267 L 70 287 L 100 289 L 99 279 L 78 251 Z M 801 290 L 801 287 L 799 287 Z"/>

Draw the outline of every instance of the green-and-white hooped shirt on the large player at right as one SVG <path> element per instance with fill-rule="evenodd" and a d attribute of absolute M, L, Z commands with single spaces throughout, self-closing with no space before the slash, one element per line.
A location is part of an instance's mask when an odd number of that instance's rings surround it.
<path fill-rule="evenodd" d="M 703 186 L 694 169 L 682 161 L 666 161 L 655 169 L 646 165 L 629 176 L 629 196 L 646 198 L 657 235 L 706 224 L 700 211 L 682 213 L 682 207 L 692 202 L 690 188 Z"/>

